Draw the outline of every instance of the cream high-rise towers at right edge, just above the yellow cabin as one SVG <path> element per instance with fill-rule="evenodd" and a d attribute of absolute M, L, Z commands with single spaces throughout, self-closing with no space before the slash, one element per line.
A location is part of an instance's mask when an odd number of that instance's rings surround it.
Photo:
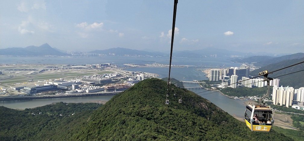
<path fill-rule="evenodd" d="M 292 87 L 273 87 L 273 105 L 292 107 L 303 110 L 304 108 L 304 87 L 294 89 Z"/>

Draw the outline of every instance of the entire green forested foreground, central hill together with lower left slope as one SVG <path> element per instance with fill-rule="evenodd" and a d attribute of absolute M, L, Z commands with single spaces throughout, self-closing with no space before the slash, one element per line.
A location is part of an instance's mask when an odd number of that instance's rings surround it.
<path fill-rule="evenodd" d="M 173 84 L 171 88 L 176 96 L 171 91 L 169 105 L 165 104 L 167 82 L 147 79 L 101 107 L 65 103 L 24 111 L 0 107 L 0 139 L 293 140 L 275 131 L 251 132 L 210 101 Z"/>

